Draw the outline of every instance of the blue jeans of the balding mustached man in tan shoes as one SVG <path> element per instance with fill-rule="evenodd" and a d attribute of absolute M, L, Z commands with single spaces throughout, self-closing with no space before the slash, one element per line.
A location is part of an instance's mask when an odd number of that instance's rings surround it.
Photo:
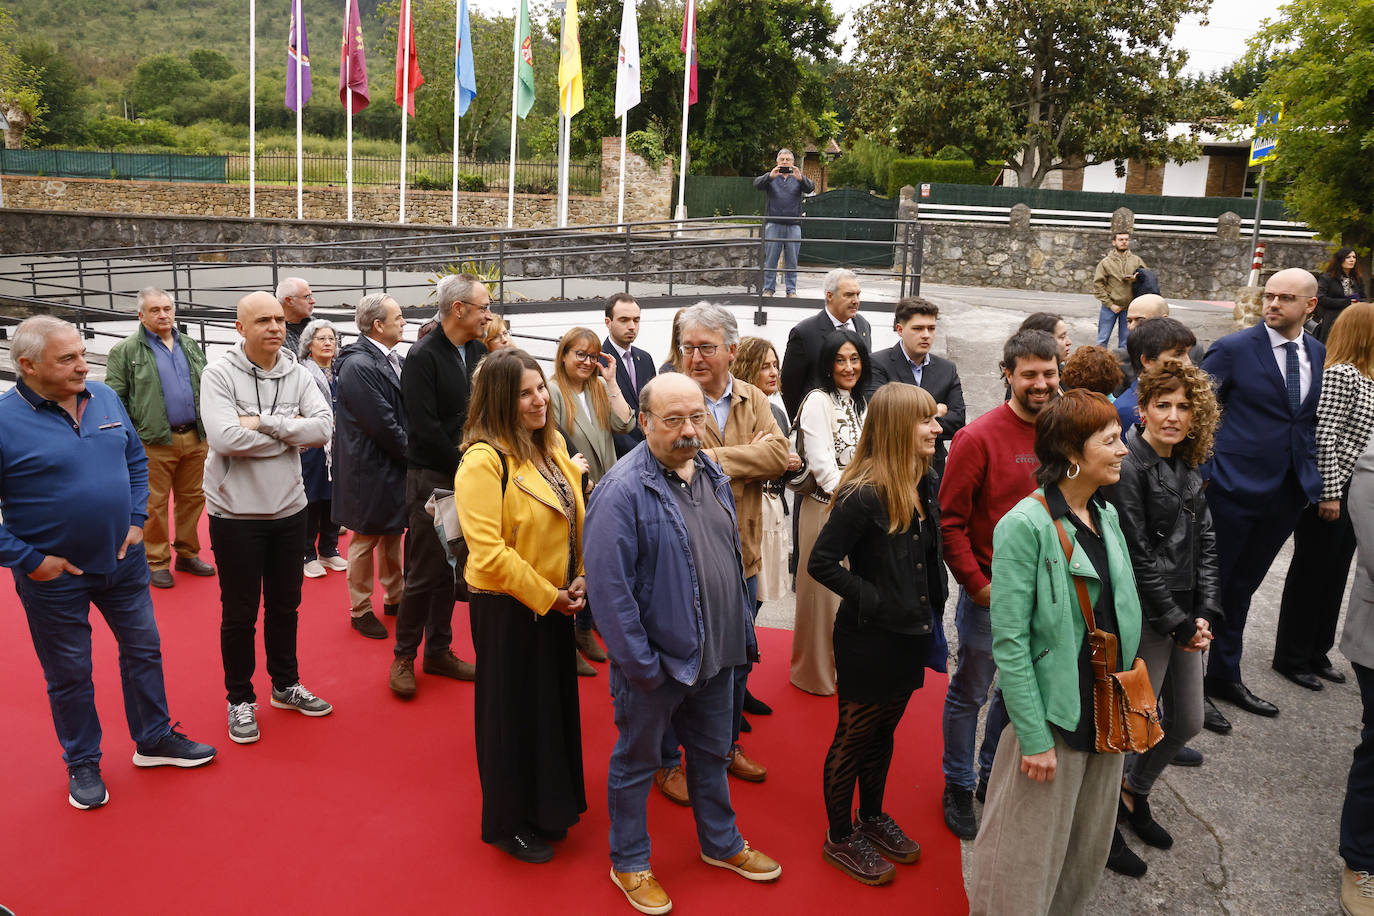
<path fill-rule="evenodd" d="M 745 840 L 735 828 L 725 781 L 735 709 L 734 669 L 692 687 L 669 678 L 646 692 L 611 662 L 610 694 L 620 731 L 606 772 L 610 861 L 616 871 L 649 869 L 649 790 L 669 722 L 687 748 L 687 791 L 701 851 L 712 858 L 739 854 Z"/>

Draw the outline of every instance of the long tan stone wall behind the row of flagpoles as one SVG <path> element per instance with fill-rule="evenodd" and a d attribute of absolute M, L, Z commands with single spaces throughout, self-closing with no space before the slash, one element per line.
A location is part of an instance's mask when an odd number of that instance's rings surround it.
<path fill-rule="evenodd" d="M 246 217 L 246 184 L 196 184 L 184 181 L 110 181 L 99 179 L 43 179 L 4 176 L 7 207 L 32 210 L 76 210 L 85 213 L 128 213 L 144 216 Z M 647 222 L 672 216 L 672 161 L 650 166 L 629 152 L 625 161 L 625 220 Z M 602 140 L 602 188 L 598 196 L 569 195 L 570 225 L 605 225 L 616 222 L 620 192 L 620 137 Z M 257 216 L 268 220 L 295 217 L 295 188 L 258 185 Z M 302 195 L 305 218 L 344 220 L 348 192 L 341 187 L 308 187 Z M 506 225 L 504 192 L 459 192 L 458 225 L 460 228 L 496 228 Z M 398 188 L 353 188 L 353 218 L 359 222 L 392 222 L 400 211 Z M 515 195 L 515 225 L 550 227 L 556 222 L 558 198 L 554 195 Z M 451 225 L 452 195 L 448 191 L 405 192 L 407 222 Z M 62 246 L 67 247 L 67 246 Z"/>

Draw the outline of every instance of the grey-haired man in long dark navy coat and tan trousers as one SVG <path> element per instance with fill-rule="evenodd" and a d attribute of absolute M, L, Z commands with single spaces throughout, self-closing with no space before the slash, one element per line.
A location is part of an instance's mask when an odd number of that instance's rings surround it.
<path fill-rule="evenodd" d="M 386 639 L 372 612 L 372 552 L 381 555 L 383 607 L 396 614 L 405 592 L 401 536 L 405 534 L 405 407 L 396 345 L 405 316 L 396 299 L 364 295 L 354 313 L 363 335 L 334 361 L 334 523 L 353 531 L 348 545 L 348 597 L 353 629 Z"/>

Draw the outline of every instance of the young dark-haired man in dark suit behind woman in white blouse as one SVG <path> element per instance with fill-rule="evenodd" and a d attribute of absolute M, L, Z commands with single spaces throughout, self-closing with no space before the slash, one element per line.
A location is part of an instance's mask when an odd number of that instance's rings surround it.
<path fill-rule="evenodd" d="M 936 441 L 936 471 L 944 475 L 947 445 L 963 428 L 963 383 L 955 364 L 930 353 L 936 342 L 940 306 L 919 295 L 897 302 L 893 331 L 901 338 L 890 350 L 872 354 L 872 382 L 868 397 L 888 382 L 918 385 L 936 400 L 940 438 Z"/>

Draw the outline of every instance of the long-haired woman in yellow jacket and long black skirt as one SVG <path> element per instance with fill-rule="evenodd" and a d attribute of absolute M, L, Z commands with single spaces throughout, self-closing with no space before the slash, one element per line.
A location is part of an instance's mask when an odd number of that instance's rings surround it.
<path fill-rule="evenodd" d="M 548 389 L 523 350 L 482 363 L 453 482 L 467 540 L 477 651 L 482 840 L 554 857 L 587 810 L 573 614 L 585 603 L 581 470 L 548 423 Z"/>

